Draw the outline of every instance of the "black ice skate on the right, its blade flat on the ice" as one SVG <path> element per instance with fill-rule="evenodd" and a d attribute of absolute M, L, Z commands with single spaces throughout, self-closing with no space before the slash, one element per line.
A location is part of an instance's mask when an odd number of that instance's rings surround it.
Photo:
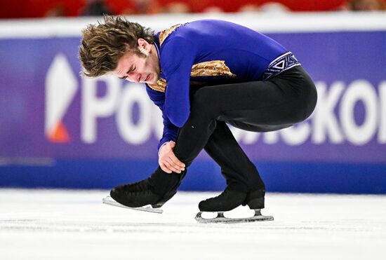
<path fill-rule="evenodd" d="M 272 216 L 262 216 L 261 209 L 264 208 L 265 190 L 261 189 L 250 193 L 239 191 L 231 191 L 225 189 L 219 196 L 208 198 L 199 203 L 200 212 L 197 213 L 195 219 L 200 223 L 239 223 L 251 221 L 268 221 L 274 220 Z M 255 210 L 253 217 L 229 219 L 224 216 L 224 212 L 233 210 L 239 205 L 248 205 L 251 210 Z M 214 219 L 205 219 L 201 217 L 203 212 L 218 212 Z"/>

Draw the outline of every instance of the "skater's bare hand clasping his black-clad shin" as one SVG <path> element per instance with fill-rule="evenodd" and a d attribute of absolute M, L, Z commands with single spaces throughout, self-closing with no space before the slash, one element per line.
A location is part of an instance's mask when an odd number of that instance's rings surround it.
<path fill-rule="evenodd" d="M 159 150 L 159 167 L 161 167 L 161 169 L 167 173 L 181 173 L 183 170 L 185 170 L 185 164 L 178 160 L 173 152 L 174 146 L 175 142 L 167 142 L 161 147 L 161 150 Z"/>

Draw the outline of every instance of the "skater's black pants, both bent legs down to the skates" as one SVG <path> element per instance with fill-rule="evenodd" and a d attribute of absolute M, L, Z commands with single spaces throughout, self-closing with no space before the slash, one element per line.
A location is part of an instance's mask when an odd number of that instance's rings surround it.
<path fill-rule="evenodd" d="M 317 103 L 317 90 L 307 72 L 296 66 L 267 81 L 214 85 L 197 90 L 190 115 L 180 128 L 175 156 L 188 167 L 202 149 L 221 167 L 229 189 L 265 188 L 226 123 L 253 132 L 288 128 L 308 118 Z M 159 167 L 150 177 L 154 192 L 164 195 L 177 189 L 186 175 L 168 175 Z"/>

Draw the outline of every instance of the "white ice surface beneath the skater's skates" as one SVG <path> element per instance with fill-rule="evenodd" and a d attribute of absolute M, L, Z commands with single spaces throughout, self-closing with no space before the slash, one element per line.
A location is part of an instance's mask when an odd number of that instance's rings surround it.
<path fill-rule="evenodd" d="M 274 221 L 198 224 L 215 193 L 179 192 L 163 214 L 103 205 L 107 194 L 0 189 L 0 259 L 386 259 L 386 196 L 267 193 Z"/>

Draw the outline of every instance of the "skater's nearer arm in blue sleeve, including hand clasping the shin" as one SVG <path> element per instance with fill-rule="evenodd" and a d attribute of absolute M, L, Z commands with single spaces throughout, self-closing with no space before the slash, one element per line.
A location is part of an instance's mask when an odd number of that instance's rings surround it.
<path fill-rule="evenodd" d="M 159 94 L 161 102 L 155 102 L 164 117 L 164 135 L 159 143 L 159 166 L 164 172 L 180 173 L 185 165 L 174 154 L 178 128 L 189 117 L 190 71 L 197 50 L 192 42 L 182 37 L 166 39 L 161 51 L 161 68 L 166 76 L 166 91 Z"/>

